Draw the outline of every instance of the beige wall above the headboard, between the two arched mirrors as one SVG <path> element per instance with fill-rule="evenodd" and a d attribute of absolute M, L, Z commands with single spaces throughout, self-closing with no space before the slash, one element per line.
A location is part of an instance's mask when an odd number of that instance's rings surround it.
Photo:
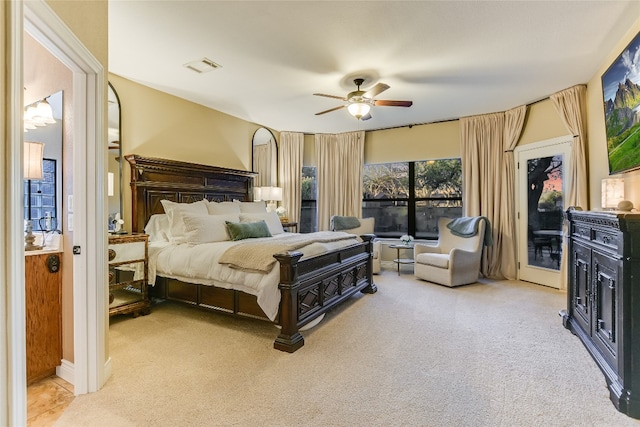
<path fill-rule="evenodd" d="M 257 124 L 115 74 L 109 74 L 109 81 L 120 98 L 124 155 L 251 170 L 251 140 Z M 122 217 L 127 229 L 131 225 L 130 169 L 126 161 L 123 166 Z"/>

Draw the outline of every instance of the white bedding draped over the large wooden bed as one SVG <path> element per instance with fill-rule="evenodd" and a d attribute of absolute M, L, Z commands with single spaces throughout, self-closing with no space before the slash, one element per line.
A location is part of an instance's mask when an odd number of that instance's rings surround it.
<path fill-rule="evenodd" d="M 252 241 L 283 238 L 290 233 L 273 237 L 251 239 Z M 219 264 L 219 259 L 227 248 L 246 241 L 224 241 L 215 243 L 169 243 L 155 241 L 149 244 L 149 283 L 155 284 L 156 275 L 181 280 L 188 283 L 215 285 L 225 289 L 236 289 L 255 295 L 258 304 L 271 320 L 275 320 L 280 304 L 278 264 L 268 273 L 252 273 Z M 318 255 L 333 249 L 358 243 L 353 239 L 327 243 L 313 243 L 299 249 L 303 258 Z"/>

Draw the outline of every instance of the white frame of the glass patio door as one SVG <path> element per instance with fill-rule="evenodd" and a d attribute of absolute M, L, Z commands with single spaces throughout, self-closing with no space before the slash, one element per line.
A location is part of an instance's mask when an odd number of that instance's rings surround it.
<path fill-rule="evenodd" d="M 557 138 L 551 138 L 544 141 L 538 141 L 531 144 L 526 144 L 522 146 L 518 146 L 514 150 L 514 159 L 516 162 L 516 179 L 515 179 L 515 200 L 516 200 L 516 242 L 517 251 L 516 251 L 516 259 L 517 259 L 517 278 L 518 280 L 529 281 L 533 283 L 538 283 L 543 286 L 550 286 L 555 289 L 560 289 L 562 287 L 562 276 L 561 269 L 557 272 L 555 270 L 545 269 L 545 268 L 535 268 L 535 274 L 533 272 L 528 271 L 530 267 L 528 266 L 528 258 L 523 259 L 527 254 L 528 250 L 528 233 L 527 233 L 527 215 L 526 211 L 523 212 L 524 206 L 528 201 L 527 195 L 524 193 L 524 183 L 522 182 L 522 173 L 525 169 L 521 169 L 522 165 L 520 165 L 520 157 L 524 154 L 532 154 L 536 157 L 546 157 L 548 156 L 548 150 L 553 147 L 558 147 L 558 153 L 564 152 L 563 158 L 563 210 L 566 209 L 566 195 L 568 194 L 569 189 L 569 177 L 566 172 L 569 171 L 569 165 L 571 163 L 571 149 L 573 146 L 573 136 L 565 135 Z M 540 155 L 536 155 L 535 152 L 541 152 Z M 527 256 L 528 257 L 528 256 Z M 534 268 L 534 267 L 531 267 Z M 524 271 L 524 278 L 522 277 Z M 536 277 L 537 281 L 531 280 L 531 277 Z"/>

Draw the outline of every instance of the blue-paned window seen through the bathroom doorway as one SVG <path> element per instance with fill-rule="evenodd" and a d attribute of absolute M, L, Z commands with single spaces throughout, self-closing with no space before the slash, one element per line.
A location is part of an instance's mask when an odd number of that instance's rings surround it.
<path fill-rule="evenodd" d="M 40 231 L 45 226 L 44 221 L 40 224 L 40 219 L 44 218 L 47 213 L 52 218 L 56 218 L 56 161 L 43 159 L 42 179 L 25 180 L 23 188 L 24 219 L 32 219 L 33 231 Z M 29 212 L 29 206 L 31 206 L 31 212 Z M 52 227 L 57 228 L 55 223 L 52 224 Z"/>

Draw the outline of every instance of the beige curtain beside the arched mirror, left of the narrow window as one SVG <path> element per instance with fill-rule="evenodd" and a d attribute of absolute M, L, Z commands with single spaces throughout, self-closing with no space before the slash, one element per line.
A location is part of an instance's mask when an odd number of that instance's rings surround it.
<path fill-rule="evenodd" d="M 278 172 L 282 187 L 281 205 L 287 210 L 289 222 L 300 222 L 303 153 L 304 134 L 280 132 Z"/>

